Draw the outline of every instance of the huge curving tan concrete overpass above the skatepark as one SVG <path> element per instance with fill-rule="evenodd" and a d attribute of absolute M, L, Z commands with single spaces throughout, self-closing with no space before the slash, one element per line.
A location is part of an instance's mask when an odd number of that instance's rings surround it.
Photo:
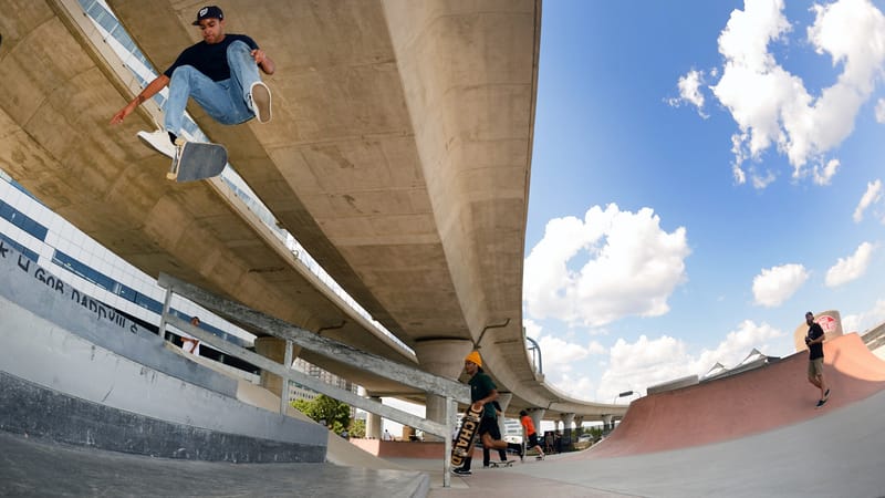
<path fill-rule="evenodd" d="M 198 40 L 200 2 L 110 3 L 160 70 Z M 221 7 L 228 31 L 252 35 L 277 62 L 266 80 L 274 118 L 225 127 L 191 115 L 279 224 L 415 355 L 319 284 L 222 181 L 168 183 L 167 160 L 134 138 L 158 110 L 107 125 L 138 89 L 75 0 L 0 0 L 0 167 L 148 274 L 449 377 L 480 347 L 512 393 L 511 414 L 623 414 L 546 385 L 524 346 L 540 1 Z M 423 396 L 303 356 L 373 395 Z"/>

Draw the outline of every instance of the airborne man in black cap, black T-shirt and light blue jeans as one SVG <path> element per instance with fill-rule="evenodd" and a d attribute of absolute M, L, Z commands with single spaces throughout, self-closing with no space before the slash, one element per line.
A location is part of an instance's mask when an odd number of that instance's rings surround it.
<path fill-rule="evenodd" d="M 225 13 L 216 6 L 200 9 L 192 24 L 199 27 L 202 41 L 185 49 L 169 69 L 111 118 L 111 124 L 122 123 L 138 105 L 168 85 L 165 129 L 138 132 L 138 137 L 173 158 L 176 146 L 184 145 L 180 133 L 188 97 L 194 97 L 221 124 L 239 124 L 252 117 L 267 123 L 271 118 L 270 89 L 258 70 L 273 74 L 273 61 L 251 38 L 227 34 Z"/>

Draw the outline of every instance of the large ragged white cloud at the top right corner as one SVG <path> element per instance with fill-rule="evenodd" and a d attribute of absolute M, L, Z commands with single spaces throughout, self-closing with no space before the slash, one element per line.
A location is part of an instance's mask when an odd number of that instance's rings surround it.
<path fill-rule="evenodd" d="M 813 179 L 829 184 L 839 164 L 825 163 L 823 155 L 851 134 L 858 110 L 881 77 L 885 17 L 870 0 L 837 0 L 814 6 L 808 42 L 819 54 L 829 54 L 834 66 L 842 66 L 836 82 L 818 96 L 769 51 L 772 43 L 787 43 L 792 31 L 782 0 L 746 0 L 745 9 L 735 10 L 720 33 L 719 52 L 726 62 L 711 91 L 740 129 L 732 136 L 736 178 L 746 176 L 745 160 L 759 159 L 775 145 L 793 166 L 794 178 L 805 176 L 812 162 Z M 763 188 L 768 183 L 753 185 Z"/>

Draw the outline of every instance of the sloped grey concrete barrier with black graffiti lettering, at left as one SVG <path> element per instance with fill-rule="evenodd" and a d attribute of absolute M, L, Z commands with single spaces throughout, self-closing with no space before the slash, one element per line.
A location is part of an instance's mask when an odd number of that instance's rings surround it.
<path fill-rule="evenodd" d="M 324 461 L 322 427 L 236 398 L 237 382 L 0 241 L 0 429 L 168 458 Z"/>

